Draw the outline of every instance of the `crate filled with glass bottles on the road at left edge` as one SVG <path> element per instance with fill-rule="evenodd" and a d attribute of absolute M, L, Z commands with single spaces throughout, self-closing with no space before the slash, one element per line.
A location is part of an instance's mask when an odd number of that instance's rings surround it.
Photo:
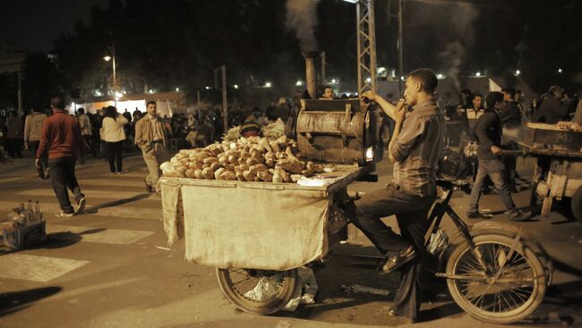
<path fill-rule="evenodd" d="M 8 215 L 12 225 L 2 229 L 5 246 L 20 249 L 47 240 L 47 223 L 42 217 L 38 200 L 34 207 L 31 200 L 27 207 L 21 203 Z"/>

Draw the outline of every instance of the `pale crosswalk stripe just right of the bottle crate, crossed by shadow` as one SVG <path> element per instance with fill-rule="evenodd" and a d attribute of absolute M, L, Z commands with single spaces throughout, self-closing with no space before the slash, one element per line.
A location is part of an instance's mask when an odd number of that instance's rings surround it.
<path fill-rule="evenodd" d="M 128 245 L 154 234 L 152 231 L 93 228 L 84 226 L 50 224 L 49 238 L 77 239 L 104 244 Z M 61 232 L 61 233 L 59 233 Z M 62 232 L 71 232 L 70 234 Z"/>

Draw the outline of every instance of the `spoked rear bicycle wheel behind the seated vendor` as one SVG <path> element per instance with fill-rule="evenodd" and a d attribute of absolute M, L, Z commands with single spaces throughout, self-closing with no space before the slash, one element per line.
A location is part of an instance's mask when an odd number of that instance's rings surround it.
<path fill-rule="evenodd" d="M 484 234 L 473 241 L 489 273 L 465 242 L 453 250 L 447 262 L 446 272 L 452 277 L 447 285 L 458 306 L 492 324 L 515 323 L 531 315 L 546 288 L 540 259 L 521 242 L 512 251 L 514 239 L 509 236 Z"/>

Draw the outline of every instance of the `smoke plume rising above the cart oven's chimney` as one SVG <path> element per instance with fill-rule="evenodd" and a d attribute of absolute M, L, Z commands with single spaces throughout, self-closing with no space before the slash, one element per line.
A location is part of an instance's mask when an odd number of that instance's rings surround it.
<path fill-rule="evenodd" d="M 317 26 L 317 4 L 320 0 L 287 0 L 285 26 L 294 30 L 301 51 L 317 50 L 314 30 Z"/>

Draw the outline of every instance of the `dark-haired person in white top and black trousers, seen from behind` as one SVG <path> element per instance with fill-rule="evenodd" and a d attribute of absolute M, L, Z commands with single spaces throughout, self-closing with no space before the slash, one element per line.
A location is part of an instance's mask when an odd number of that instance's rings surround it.
<path fill-rule="evenodd" d="M 107 145 L 109 172 L 121 174 L 124 153 L 125 124 L 129 123 L 124 115 L 117 113 L 114 106 L 107 106 L 103 115 L 102 133 Z"/>

